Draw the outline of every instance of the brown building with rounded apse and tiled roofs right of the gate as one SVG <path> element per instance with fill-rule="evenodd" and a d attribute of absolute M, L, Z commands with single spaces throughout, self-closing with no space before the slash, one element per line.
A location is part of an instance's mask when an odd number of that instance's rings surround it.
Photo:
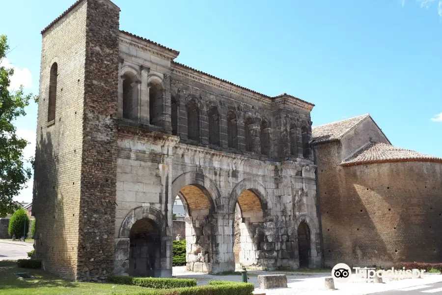
<path fill-rule="evenodd" d="M 442 259 L 442 159 L 391 145 L 370 115 L 313 127 L 324 264 Z"/>

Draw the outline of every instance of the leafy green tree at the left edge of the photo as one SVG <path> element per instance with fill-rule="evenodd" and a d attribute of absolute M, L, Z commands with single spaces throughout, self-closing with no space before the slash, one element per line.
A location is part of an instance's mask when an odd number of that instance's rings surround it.
<path fill-rule="evenodd" d="M 9 45 L 5 35 L 0 35 L 0 64 L 8 53 Z M 9 89 L 14 69 L 0 67 L 0 217 L 14 212 L 17 206 L 13 198 L 26 187 L 31 171 L 24 165 L 23 149 L 28 145 L 18 138 L 13 121 L 25 116 L 32 94 L 25 95 L 23 86 Z"/>

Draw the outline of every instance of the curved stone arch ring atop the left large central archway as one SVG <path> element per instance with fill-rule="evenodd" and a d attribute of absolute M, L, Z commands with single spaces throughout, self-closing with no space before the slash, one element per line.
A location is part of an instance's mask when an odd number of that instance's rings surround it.
<path fill-rule="evenodd" d="M 206 193 L 211 209 L 214 213 L 223 209 L 224 202 L 221 198 L 221 193 L 218 190 L 218 187 L 210 178 L 205 177 L 201 173 L 186 172 L 179 177 L 176 177 L 172 181 L 172 198 L 178 196 L 181 188 L 186 185 L 194 185 Z"/>

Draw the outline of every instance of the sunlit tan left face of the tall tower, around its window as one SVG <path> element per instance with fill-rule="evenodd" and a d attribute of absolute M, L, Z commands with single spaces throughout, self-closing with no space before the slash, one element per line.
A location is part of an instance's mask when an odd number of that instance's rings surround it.
<path fill-rule="evenodd" d="M 83 149 L 87 4 L 43 32 L 32 215 L 43 268 L 76 278 Z M 55 119 L 48 122 L 50 70 L 57 63 Z"/>

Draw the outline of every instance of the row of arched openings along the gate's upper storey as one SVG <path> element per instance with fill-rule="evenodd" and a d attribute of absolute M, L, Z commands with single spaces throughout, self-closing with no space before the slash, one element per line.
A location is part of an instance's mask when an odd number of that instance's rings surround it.
<path fill-rule="evenodd" d="M 226 120 L 227 148 L 242 150 L 266 156 L 272 151 L 272 126 L 267 118 L 258 118 L 247 113 L 244 120 L 238 118 L 237 111 L 229 107 L 226 114 L 221 114 L 216 103 L 203 106 L 193 95 L 182 97 L 179 90 L 170 94 L 170 83 L 164 81 L 170 76 L 139 71 L 131 66 L 124 66 L 120 75 L 120 117 L 135 121 L 180 136 L 189 144 L 202 144 L 203 130 L 208 130 L 208 145 L 221 147 L 221 118 Z M 169 85 L 167 85 L 169 84 Z M 169 112 L 167 112 L 169 110 Z M 222 115 L 222 116 L 221 116 Z M 225 117 L 224 117 L 225 115 Z M 239 126 L 239 122 L 241 125 Z M 308 158 L 310 156 L 308 124 L 290 122 L 288 137 L 290 155 Z M 240 128 L 244 128 L 244 149 L 240 148 Z M 302 145 L 302 154 L 298 146 Z"/>

